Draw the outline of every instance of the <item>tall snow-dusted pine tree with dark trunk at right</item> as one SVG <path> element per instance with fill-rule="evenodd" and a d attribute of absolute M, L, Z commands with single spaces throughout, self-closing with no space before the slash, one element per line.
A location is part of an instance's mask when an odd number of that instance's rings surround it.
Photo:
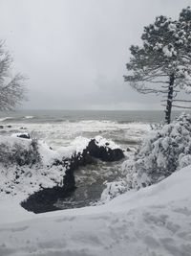
<path fill-rule="evenodd" d="M 156 93 L 167 97 L 165 122 L 171 121 L 173 102 L 180 89 L 191 92 L 191 9 L 183 9 L 179 20 L 158 16 L 144 27 L 142 46 L 130 47 L 125 81 L 143 94 Z M 187 101 L 190 102 L 190 101 Z"/>

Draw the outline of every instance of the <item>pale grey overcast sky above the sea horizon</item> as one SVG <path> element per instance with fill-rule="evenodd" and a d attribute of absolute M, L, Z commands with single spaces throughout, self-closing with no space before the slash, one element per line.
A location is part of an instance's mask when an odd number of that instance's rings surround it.
<path fill-rule="evenodd" d="M 131 44 L 159 14 L 190 0 L 0 0 L 0 37 L 27 75 L 24 108 L 149 109 L 156 96 L 123 81 Z"/>

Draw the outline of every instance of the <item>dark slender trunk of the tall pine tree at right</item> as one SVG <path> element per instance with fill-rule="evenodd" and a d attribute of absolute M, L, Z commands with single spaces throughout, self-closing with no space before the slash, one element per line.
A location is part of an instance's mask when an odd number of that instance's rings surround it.
<path fill-rule="evenodd" d="M 170 122 L 171 122 L 171 110 L 172 110 L 174 81 L 175 81 L 175 75 L 171 74 L 169 86 L 168 86 L 168 96 L 167 96 L 167 103 L 166 103 L 166 110 L 165 110 L 165 123 L 166 124 L 170 124 Z"/>

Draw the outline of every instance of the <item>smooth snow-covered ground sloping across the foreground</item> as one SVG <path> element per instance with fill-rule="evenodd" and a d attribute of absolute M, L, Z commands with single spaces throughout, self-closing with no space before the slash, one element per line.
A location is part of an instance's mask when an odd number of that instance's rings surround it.
<path fill-rule="evenodd" d="M 1 198 L 0 255 L 190 256 L 190 180 L 188 166 L 104 205 L 40 215 Z"/>

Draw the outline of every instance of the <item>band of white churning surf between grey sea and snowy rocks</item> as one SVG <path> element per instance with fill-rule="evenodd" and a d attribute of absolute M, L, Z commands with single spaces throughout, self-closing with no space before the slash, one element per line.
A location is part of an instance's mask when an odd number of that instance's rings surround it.
<path fill-rule="evenodd" d="M 144 134 L 150 129 L 145 123 L 125 123 L 120 124 L 113 121 L 76 121 L 62 123 L 11 123 L 11 127 L 18 132 L 25 128 L 25 132 L 32 133 L 32 136 L 46 141 L 51 147 L 70 146 L 76 137 L 86 137 L 88 139 L 101 135 L 107 139 L 120 141 L 130 141 L 138 143 Z M 6 128 L 5 128 L 6 129 Z M 8 129 L 11 132 L 10 129 Z M 124 143 L 125 144 L 125 143 Z M 128 143 L 127 143 L 128 144 Z"/>

